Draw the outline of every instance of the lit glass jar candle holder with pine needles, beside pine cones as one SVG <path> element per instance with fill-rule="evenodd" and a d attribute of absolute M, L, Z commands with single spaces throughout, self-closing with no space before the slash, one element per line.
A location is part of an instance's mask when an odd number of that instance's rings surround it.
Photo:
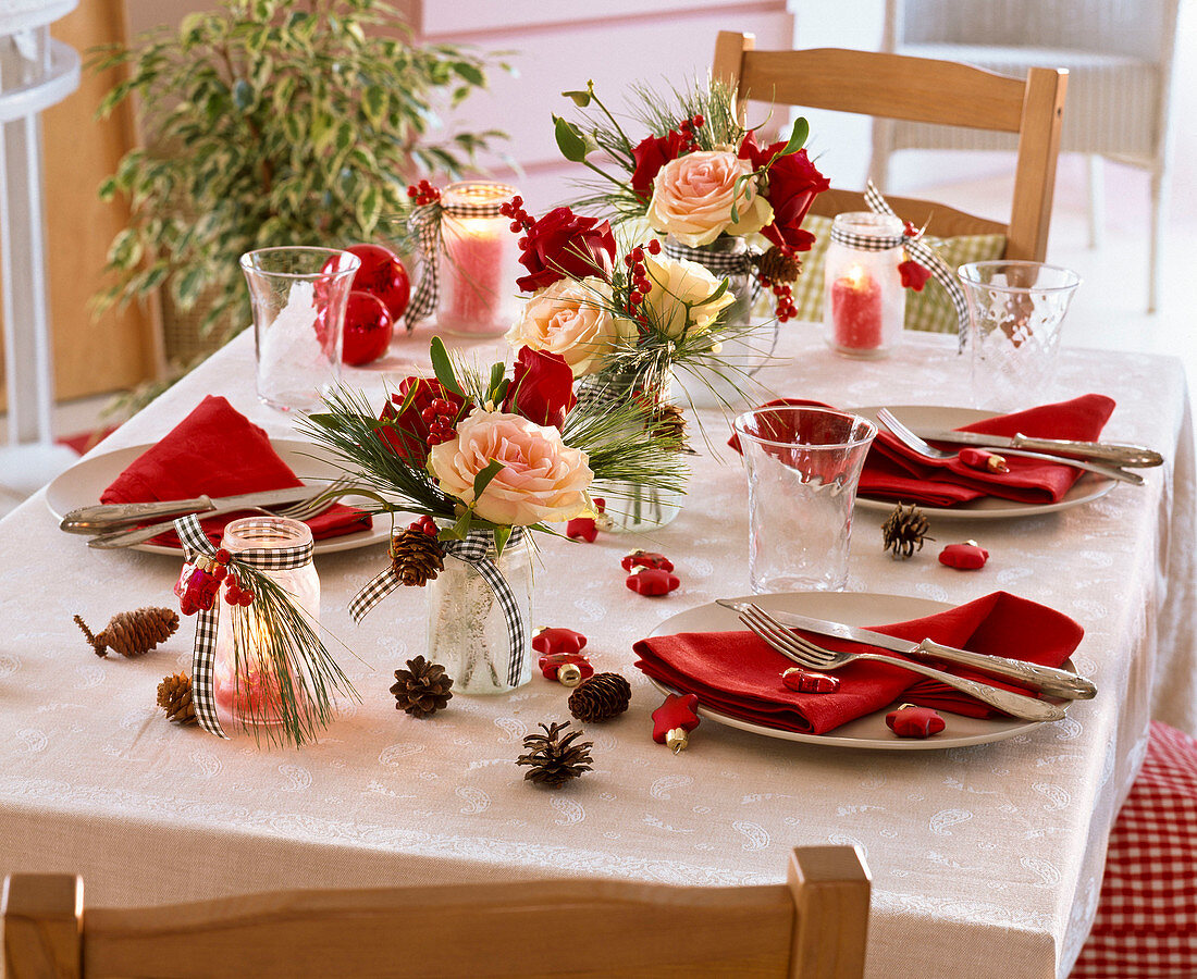
<path fill-rule="evenodd" d="M 299 521 L 284 517 L 244 517 L 225 527 L 220 546 L 230 554 L 269 551 L 311 543 L 311 530 Z M 308 620 L 320 628 L 320 577 L 309 558 L 299 567 L 262 572 L 279 585 Z M 221 601 L 218 598 L 218 601 Z M 217 626 L 213 664 L 213 694 L 221 726 L 279 725 L 286 703 L 304 709 L 303 677 L 280 673 L 272 652 L 274 637 L 259 614 L 256 600 L 248 607 L 225 604 Z M 294 713 L 294 712 L 292 712 Z"/>

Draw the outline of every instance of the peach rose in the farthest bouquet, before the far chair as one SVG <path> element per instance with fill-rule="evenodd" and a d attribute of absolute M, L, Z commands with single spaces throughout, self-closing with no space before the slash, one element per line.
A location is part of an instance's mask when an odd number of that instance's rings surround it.
<path fill-rule="evenodd" d="M 751 235 L 773 220 L 773 208 L 757 193 L 757 178 L 736 188 L 753 171 L 752 162 L 729 150 L 688 153 L 657 171 L 649 202 L 649 223 L 691 248 L 719 235 Z M 734 196 L 733 196 L 734 195 Z M 731 219 L 731 205 L 739 220 Z"/>

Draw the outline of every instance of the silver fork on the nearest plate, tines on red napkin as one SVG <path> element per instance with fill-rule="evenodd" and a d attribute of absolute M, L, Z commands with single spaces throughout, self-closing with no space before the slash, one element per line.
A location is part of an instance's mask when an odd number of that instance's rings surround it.
<path fill-rule="evenodd" d="M 906 659 L 880 656 L 875 652 L 836 652 L 825 649 L 791 632 L 762 608 L 751 602 L 741 609 L 740 621 L 788 659 L 809 669 L 838 670 L 849 663 L 861 661 L 887 663 L 891 667 L 901 667 L 904 670 L 938 680 L 941 683 L 967 693 L 970 697 L 976 697 L 982 703 L 997 707 L 1004 713 L 1021 717 L 1023 720 L 1059 720 L 1064 717 L 1064 709 L 1056 704 L 990 687 L 962 676 L 953 676 L 950 673 L 924 667 L 922 663 L 911 663 Z"/>

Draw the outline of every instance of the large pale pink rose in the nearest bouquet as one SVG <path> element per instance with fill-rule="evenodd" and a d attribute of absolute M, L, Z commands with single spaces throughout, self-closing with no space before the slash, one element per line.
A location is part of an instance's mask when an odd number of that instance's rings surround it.
<path fill-rule="evenodd" d="M 572 519 L 585 509 L 594 479 L 587 454 L 561 442 L 557 428 L 519 415 L 475 408 L 457 426 L 456 438 L 432 446 L 429 467 L 442 490 L 473 503 L 474 476 L 491 460 L 503 468 L 474 507 L 482 519 L 528 527 Z"/>

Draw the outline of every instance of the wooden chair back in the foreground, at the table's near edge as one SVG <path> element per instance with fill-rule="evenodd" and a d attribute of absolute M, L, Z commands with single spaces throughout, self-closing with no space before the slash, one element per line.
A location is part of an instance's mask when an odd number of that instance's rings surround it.
<path fill-rule="evenodd" d="M 89 910 L 83 880 L 5 883 L 8 979 L 728 977 L 858 979 L 869 872 L 855 847 L 794 851 L 788 883 L 610 881 L 292 890 Z"/>

